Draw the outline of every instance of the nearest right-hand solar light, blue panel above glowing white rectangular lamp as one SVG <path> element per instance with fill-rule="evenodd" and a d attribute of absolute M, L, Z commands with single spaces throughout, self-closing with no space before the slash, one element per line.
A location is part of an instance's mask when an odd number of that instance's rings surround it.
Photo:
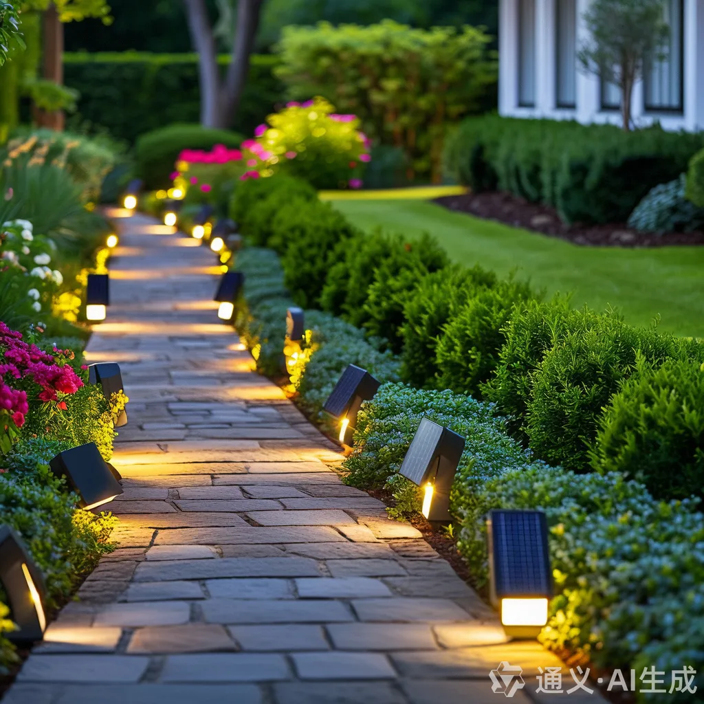
<path fill-rule="evenodd" d="M 491 603 L 508 636 L 535 638 L 548 622 L 553 580 L 542 511 L 492 510 L 486 520 Z"/>

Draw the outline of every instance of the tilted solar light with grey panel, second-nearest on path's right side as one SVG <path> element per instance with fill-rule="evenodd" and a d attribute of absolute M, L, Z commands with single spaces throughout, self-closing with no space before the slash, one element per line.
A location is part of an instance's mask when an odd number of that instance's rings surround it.
<path fill-rule="evenodd" d="M 427 520 L 451 520 L 450 489 L 464 449 L 463 436 L 427 418 L 420 421 L 403 458 L 401 474 L 422 487 L 421 513 Z"/>

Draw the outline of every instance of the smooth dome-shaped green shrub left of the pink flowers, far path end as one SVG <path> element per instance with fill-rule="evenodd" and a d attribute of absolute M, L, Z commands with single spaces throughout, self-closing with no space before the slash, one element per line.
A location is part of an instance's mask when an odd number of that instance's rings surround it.
<path fill-rule="evenodd" d="M 215 144 L 234 148 L 242 139 L 237 132 L 182 122 L 144 132 L 134 146 L 137 175 L 148 189 L 169 188 L 170 174 L 176 170 L 176 159 L 184 149 L 212 149 Z"/>

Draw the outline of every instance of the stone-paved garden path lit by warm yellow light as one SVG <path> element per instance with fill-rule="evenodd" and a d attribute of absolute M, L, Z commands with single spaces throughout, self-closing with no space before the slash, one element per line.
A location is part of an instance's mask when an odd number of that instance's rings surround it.
<path fill-rule="evenodd" d="M 210 251 L 144 216 L 120 230 L 88 346 L 130 396 L 119 548 L 4 702 L 482 704 L 503 660 L 524 670 L 512 700 L 539 700 L 537 667 L 562 663 L 502 643 L 417 530 L 340 482 L 339 448 L 218 321 Z"/>

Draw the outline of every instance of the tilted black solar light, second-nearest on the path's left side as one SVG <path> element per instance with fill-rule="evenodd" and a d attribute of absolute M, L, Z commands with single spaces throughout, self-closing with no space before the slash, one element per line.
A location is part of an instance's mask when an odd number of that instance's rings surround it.
<path fill-rule="evenodd" d="M 57 477 L 65 477 L 80 496 L 80 506 L 90 510 L 122 494 L 122 486 L 101 457 L 94 442 L 64 450 L 49 463 Z"/>

